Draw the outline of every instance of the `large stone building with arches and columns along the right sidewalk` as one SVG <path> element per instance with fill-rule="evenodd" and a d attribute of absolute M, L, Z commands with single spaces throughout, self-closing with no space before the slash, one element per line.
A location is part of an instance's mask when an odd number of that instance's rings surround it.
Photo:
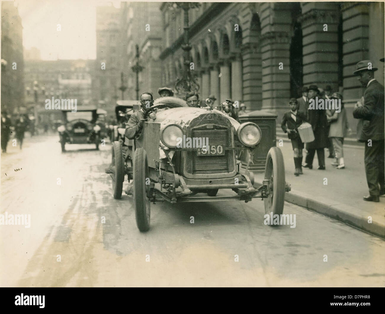
<path fill-rule="evenodd" d="M 161 5 L 162 85 L 183 70 L 183 12 Z M 205 99 L 232 98 L 248 110 L 278 114 L 303 85 L 343 91 L 351 115 L 363 89 L 355 64 L 371 59 L 383 83 L 383 2 L 201 3 L 189 11 L 191 60 Z M 183 96 L 183 95 L 180 95 Z"/>

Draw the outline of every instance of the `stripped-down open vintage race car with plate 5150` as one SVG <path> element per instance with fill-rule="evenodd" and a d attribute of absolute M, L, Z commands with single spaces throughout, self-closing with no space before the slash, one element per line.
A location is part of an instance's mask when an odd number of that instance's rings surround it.
<path fill-rule="evenodd" d="M 285 182 L 281 150 L 269 150 L 263 184 L 258 188 L 254 187 L 254 174 L 248 171 L 262 136 L 258 125 L 239 124 L 210 106 L 191 108 L 179 98 L 172 99 L 158 101 L 145 112 L 148 120 L 135 140 L 135 150 L 131 150 L 139 230 L 149 230 L 150 204 L 156 201 L 248 202 L 261 198 L 266 213 L 282 214 L 285 191 L 290 186 Z M 122 145 L 115 143 L 112 169 L 115 179 L 122 182 L 125 159 Z M 238 156 L 244 150 L 249 151 L 249 160 L 241 173 Z M 231 189 L 234 194 L 217 197 L 219 189 Z M 194 196 L 198 193 L 208 196 Z"/>

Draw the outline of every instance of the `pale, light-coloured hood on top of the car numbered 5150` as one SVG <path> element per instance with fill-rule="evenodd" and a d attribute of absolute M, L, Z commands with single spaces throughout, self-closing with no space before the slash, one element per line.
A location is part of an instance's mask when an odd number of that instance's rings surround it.
<path fill-rule="evenodd" d="M 169 108 L 167 110 L 157 112 L 156 119 L 154 120 L 154 122 L 161 123 L 161 128 L 162 126 L 168 124 L 177 124 L 183 128 L 185 126 L 189 126 L 190 122 L 193 119 L 198 118 L 201 115 L 208 114 L 217 114 L 224 116 L 230 121 L 235 130 L 237 130 L 240 125 L 238 121 L 234 120 L 233 118 L 229 117 L 228 115 L 224 114 L 219 110 L 206 110 L 203 108 L 194 107 Z"/>

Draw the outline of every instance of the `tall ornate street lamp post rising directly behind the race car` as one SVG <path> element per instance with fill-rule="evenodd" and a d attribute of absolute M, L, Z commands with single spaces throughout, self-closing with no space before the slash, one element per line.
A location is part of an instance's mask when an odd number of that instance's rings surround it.
<path fill-rule="evenodd" d="M 190 70 L 190 50 L 191 45 L 189 44 L 189 10 L 192 8 L 198 8 L 200 3 L 197 2 L 174 2 L 174 8 L 181 8 L 184 12 L 184 33 L 183 33 L 183 44 L 181 45 L 183 50 L 183 64 L 184 71 L 182 77 L 177 77 L 175 89 L 178 94 L 187 92 L 198 92 L 199 84 L 197 83 L 197 77 Z"/>

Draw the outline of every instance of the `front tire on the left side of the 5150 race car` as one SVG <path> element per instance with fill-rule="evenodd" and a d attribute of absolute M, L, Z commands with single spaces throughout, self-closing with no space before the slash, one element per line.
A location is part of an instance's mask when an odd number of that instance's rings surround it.
<path fill-rule="evenodd" d="M 147 154 L 138 148 L 134 155 L 134 205 L 136 225 L 141 232 L 150 229 L 150 200 L 147 198 L 146 178 L 148 178 Z"/>

